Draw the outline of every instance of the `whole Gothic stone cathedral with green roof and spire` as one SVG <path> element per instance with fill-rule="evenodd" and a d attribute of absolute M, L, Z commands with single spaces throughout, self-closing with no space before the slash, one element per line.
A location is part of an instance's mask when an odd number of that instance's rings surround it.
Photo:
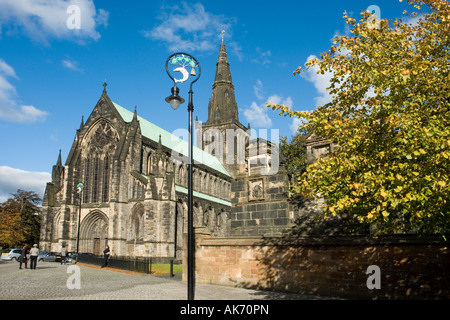
<path fill-rule="evenodd" d="M 194 147 L 194 227 L 206 227 L 213 237 L 275 235 L 310 214 L 288 201 L 282 162 L 267 173 L 278 158 L 276 146 L 250 140 L 250 125 L 239 122 L 223 41 L 208 120 L 196 121 L 196 129 L 201 139 Z M 138 116 L 136 108 L 111 101 L 105 84 L 92 113 L 81 121 L 65 164 L 60 153 L 53 166 L 40 248 L 59 251 L 65 245 L 75 251 L 79 231 L 79 252 L 100 254 L 108 244 L 117 256 L 181 258 L 187 232 L 184 144 Z M 314 140 L 312 148 L 317 146 Z M 329 149 L 326 142 L 319 146 Z"/>

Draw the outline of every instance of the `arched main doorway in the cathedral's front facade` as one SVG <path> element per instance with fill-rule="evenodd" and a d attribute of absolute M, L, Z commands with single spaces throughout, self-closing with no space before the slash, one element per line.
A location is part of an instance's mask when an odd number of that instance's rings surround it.
<path fill-rule="evenodd" d="M 91 211 L 81 221 L 79 252 L 100 255 L 108 243 L 108 217 L 101 211 Z"/>

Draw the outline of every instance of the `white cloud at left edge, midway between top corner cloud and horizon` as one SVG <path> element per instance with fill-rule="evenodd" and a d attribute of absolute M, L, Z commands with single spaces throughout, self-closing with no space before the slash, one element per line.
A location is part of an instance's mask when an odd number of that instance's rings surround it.
<path fill-rule="evenodd" d="M 16 88 L 7 78 L 17 79 L 14 68 L 0 58 L 0 119 L 10 122 L 36 122 L 44 120 L 46 111 L 31 105 L 22 105 L 17 99 Z"/>

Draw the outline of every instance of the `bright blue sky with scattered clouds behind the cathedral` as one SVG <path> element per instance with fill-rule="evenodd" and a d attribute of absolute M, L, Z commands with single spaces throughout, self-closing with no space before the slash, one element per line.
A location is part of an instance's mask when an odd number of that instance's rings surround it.
<path fill-rule="evenodd" d="M 70 5 L 79 8 L 79 28 Z M 43 195 L 59 150 L 64 163 L 105 80 L 114 102 L 137 105 L 169 132 L 187 128 L 186 104 L 173 111 L 164 101 L 172 85 L 165 62 L 174 52 L 202 67 L 194 117 L 206 121 L 222 30 L 240 121 L 291 136 L 293 120 L 265 103 L 311 110 L 326 101 L 326 76 L 292 72 L 348 33 L 344 11 L 359 19 L 370 5 L 388 19 L 410 9 L 396 0 L 0 0 L 0 202 L 18 188 Z M 188 88 L 180 90 L 187 100 Z"/>

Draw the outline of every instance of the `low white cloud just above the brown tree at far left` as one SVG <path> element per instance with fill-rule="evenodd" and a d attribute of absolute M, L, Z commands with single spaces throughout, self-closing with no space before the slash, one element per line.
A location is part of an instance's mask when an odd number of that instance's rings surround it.
<path fill-rule="evenodd" d="M 51 181 L 48 172 L 33 172 L 0 166 L 0 203 L 11 198 L 11 193 L 17 189 L 34 191 L 41 198 L 44 196 L 45 186 Z"/>

